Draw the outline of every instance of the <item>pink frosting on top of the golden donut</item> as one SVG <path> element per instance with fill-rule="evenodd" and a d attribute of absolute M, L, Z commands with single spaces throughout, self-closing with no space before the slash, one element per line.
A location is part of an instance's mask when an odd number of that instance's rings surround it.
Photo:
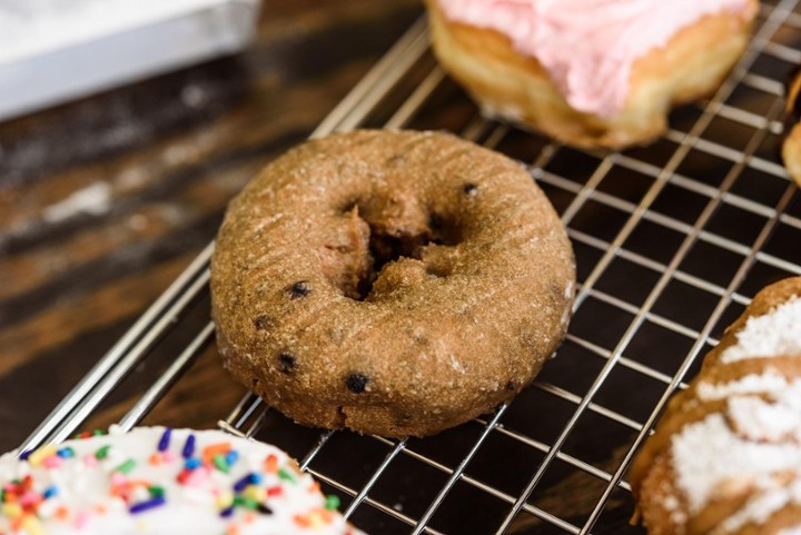
<path fill-rule="evenodd" d="M 601 117 L 624 106 L 634 60 L 704 14 L 750 6 L 748 0 L 438 2 L 448 20 L 508 36 L 518 53 L 537 58 L 571 106 Z"/>

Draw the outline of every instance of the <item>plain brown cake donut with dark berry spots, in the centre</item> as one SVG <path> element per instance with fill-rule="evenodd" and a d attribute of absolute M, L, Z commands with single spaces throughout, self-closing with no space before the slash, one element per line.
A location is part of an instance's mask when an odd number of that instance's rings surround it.
<path fill-rule="evenodd" d="M 211 311 L 227 368 L 296 422 L 421 436 L 533 379 L 574 277 L 522 166 L 446 133 L 363 130 L 295 148 L 231 202 Z"/>

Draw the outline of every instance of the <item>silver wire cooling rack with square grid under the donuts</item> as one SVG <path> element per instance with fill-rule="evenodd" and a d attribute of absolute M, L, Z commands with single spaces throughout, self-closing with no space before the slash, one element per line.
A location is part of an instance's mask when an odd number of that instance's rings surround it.
<path fill-rule="evenodd" d="M 382 534 L 641 534 L 626 467 L 699 356 L 763 286 L 801 274 L 801 196 L 779 164 L 799 0 L 763 2 L 750 48 L 655 143 L 582 151 L 481 117 L 414 24 L 314 136 L 447 129 L 531 166 L 568 228 L 581 287 L 557 358 L 508 405 L 425 439 L 297 426 L 246 395 L 219 425 L 300 459 Z M 170 333 L 184 349 L 120 425 L 136 425 L 212 343 L 209 245 L 22 445 L 60 440 Z M 199 313 L 197 311 L 199 310 Z M 192 318 L 192 315 L 195 319 Z M 200 319 L 197 319 L 197 318 Z"/>

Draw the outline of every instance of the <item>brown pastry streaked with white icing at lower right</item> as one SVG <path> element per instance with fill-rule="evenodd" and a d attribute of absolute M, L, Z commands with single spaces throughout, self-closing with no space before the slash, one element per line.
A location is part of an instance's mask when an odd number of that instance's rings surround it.
<path fill-rule="evenodd" d="M 631 484 L 651 535 L 801 533 L 801 277 L 763 289 L 729 327 Z"/>

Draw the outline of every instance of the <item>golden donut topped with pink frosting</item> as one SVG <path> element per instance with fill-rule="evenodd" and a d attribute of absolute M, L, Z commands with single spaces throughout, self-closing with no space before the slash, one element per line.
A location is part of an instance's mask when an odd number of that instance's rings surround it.
<path fill-rule="evenodd" d="M 621 148 L 712 93 L 756 0 L 426 0 L 434 51 L 485 112 L 568 143 Z"/>

